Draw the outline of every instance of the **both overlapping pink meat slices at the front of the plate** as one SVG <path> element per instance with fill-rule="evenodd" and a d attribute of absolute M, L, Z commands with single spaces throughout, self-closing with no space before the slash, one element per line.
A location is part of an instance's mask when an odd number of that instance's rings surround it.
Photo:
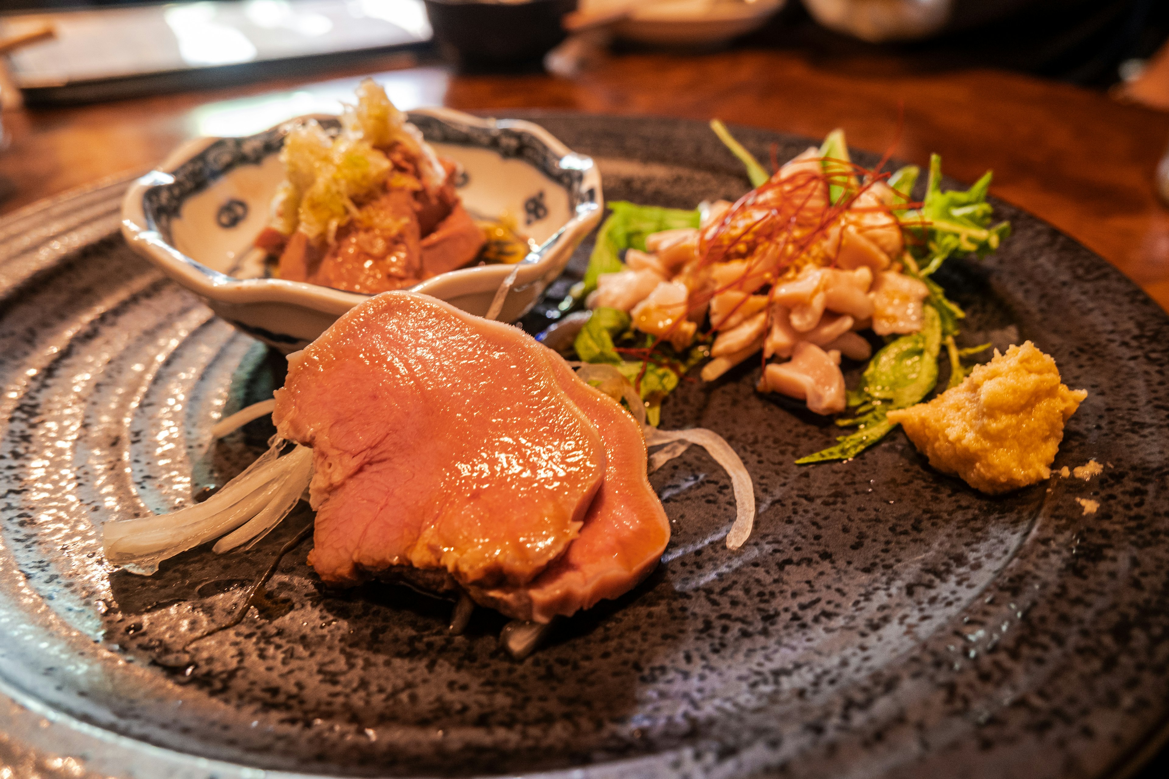
<path fill-rule="evenodd" d="M 634 418 L 514 327 L 372 298 L 290 357 L 272 415 L 312 447 L 309 558 L 547 622 L 627 592 L 670 527 Z"/>

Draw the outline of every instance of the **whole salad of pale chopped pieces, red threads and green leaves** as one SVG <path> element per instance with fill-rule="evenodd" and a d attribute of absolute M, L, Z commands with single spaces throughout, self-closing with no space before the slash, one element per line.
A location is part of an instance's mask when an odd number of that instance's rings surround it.
<path fill-rule="evenodd" d="M 635 384 L 651 424 L 662 398 L 690 368 L 714 381 L 759 355 L 761 392 L 810 411 L 853 417 L 858 431 L 800 462 L 849 459 L 895 425 L 894 409 L 934 389 L 945 345 L 950 381 L 961 357 L 962 309 L 931 277 L 955 253 L 997 249 L 1009 225 L 991 225 L 988 173 L 966 192 L 942 192 L 933 158 L 926 197 L 919 171 L 894 174 L 850 161 L 842 131 L 768 174 L 721 125 L 754 188 L 736 202 L 684 209 L 610 203 L 584 280 L 592 311 L 574 342 L 580 360 L 613 366 Z M 870 361 L 848 391 L 843 359 Z"/>

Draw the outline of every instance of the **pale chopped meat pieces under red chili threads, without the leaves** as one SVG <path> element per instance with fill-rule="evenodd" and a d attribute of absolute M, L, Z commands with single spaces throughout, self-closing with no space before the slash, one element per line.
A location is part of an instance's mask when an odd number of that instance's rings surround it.
<path fill-rule="evenodd" d="M 816 413 L 845 409 L 841 355 L 872 356 L 858 332 L 915 333 L 926 285 L 899 262 L 893 209 L 905 197 L 877 181 L 844 206 L 816 148 L 795 158 L 739 203 L 704 209 L 697 228 L 645 238 L 625 270 L 597 277 L 589 308 L 628 312 L 632 328 L 689 348 L 708 319 L 711 381 L 762 350 L 760 389 L 805 401 Z"/>

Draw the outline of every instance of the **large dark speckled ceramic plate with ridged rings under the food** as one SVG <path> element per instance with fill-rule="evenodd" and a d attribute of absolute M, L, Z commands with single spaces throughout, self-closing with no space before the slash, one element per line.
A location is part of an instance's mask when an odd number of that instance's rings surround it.
<path fill-rule="evenodd" d="M 747 186 L 701 124 L 535 118 L 599 160 L 613 199 Z M 1056 467 L 1102 474 L 985 498 L 900 433 L 801 468 L 836 431 L 756 395 L 758 367 L 685 383 L 664 424 L 742 454 L 754 535 L 725 548 L 731 485 L 691 450 L 652 477 L 675 529 L 657 572 L 517 662 L 486 611 L 452 637 L 447 603 L 320 586 L 311 542 L 292 543 L 304 512 L 153 578 L 105 564 L 103 521 L 185 503 L 255 455 L 267 422 L 215 445 L 209 429 L 283 371 L 127 250 L 123 187 L 0 223 L 0 761 L 18 771 L 1101 777 L 1165 718 L 1169 319 L 1038 220 L 997 203 L 1015 236 L 943 281 L 970 341 L 1032 339 L 1091 392 Z"/>

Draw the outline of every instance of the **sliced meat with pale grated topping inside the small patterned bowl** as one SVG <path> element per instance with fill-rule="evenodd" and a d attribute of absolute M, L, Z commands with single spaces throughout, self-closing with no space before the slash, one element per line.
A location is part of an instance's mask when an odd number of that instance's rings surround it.
<path fill-rule="evenodd" d="M 376 293 L 414 285 L 476 258 L 485 238 L 455 192 L 456 165 L 438 158 L 373 79 L 330 135 L 317 121 L 291 130 L 285 180 L 256 246 L 275 273 Z"/>

